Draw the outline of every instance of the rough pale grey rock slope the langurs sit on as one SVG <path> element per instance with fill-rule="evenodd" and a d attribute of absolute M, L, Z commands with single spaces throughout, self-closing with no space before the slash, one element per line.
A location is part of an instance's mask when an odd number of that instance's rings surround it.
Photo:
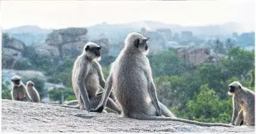
<path fill-rule="evenodd" d="M 174 121 L 135 120 L 122 118 L 115 113 L 91 113 L 86 110 L 14 100 L 2 100 L 1 108 L 1 130 L 3 133 L 255 132 L 254 126 L 240 126 L 235 128 L 201 127 Z"/>

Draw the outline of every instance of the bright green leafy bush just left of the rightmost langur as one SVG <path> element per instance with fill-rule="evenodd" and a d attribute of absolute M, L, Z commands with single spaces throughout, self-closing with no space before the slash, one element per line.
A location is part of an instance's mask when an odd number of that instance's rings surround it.
<path fill-rule="evenodd" d="M 199 94 L 194 100 L 189 100 L 186 108 L 191 120 L 229 123 L 232 117 L 232 103 L 229 100 L 219 100 L 214 89 L 209 89 L 207 84 L 201 86 Z"/>

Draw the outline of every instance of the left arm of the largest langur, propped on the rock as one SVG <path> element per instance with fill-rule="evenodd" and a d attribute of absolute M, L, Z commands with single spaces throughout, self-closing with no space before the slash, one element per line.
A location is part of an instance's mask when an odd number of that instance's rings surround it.
<path fill-rule="evenodd" d="M 113 78 L 112 78 L 112 74 L 110 74 L 110 76 L 108 76 L 108 79 L 106 82 L 105 91 L 103 93 L 103 98 L 101 98 L 100 103 L 97 106 L 97 108 L 91 109 L 90 111 L 99 112 L 99 113 L 103 112 L 105 105 L 107 104 L 108 97 L 110 96 L 112 85 L 113 85 Z"/>

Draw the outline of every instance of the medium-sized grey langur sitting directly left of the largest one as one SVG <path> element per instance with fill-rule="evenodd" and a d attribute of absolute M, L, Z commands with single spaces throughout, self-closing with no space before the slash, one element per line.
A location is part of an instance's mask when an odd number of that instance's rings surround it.
<path fill-rule="evenodd" d="M 100 103 L 103 93 L 98 93 L 98 91 L 105 87 L 105 79 L 100 63 L 97 61 L 99 58 L 100 46 L 88 42 L 82 54 L 77 57 L 72 70 L 72 86 L 78 105 L 62 106 L 90 110 Z M 118 104 L 112 98 L 107 99 L 107 107 L 121 113 Z"/>

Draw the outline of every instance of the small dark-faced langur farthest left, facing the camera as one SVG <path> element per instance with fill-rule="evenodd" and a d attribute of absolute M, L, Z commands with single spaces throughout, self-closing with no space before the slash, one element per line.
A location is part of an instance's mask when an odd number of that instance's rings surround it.
<path fill-rule="evenodd" d="M 11 98 L 12 100 L 33 101 L 27 92 L 27 88 L 22 83 L 19 76 L 11 78 Z"/>

